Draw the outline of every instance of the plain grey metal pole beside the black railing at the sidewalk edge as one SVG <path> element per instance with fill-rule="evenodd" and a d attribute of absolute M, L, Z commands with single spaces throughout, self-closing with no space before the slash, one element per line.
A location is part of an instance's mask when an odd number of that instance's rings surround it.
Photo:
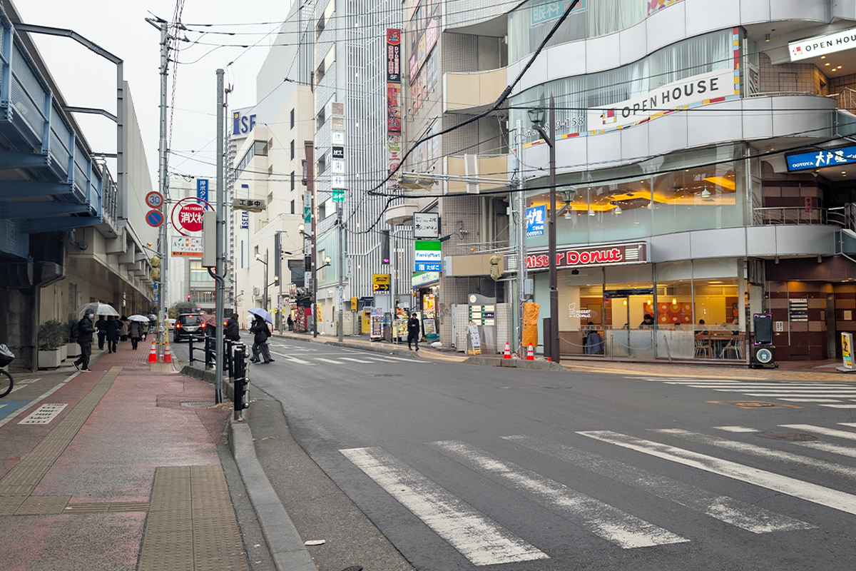
<path fill-rule="evenodd" d="M 226 256 L 224 255 L 223 243 L 226 239 L 226 204 L 223 200 L 225 188 L 223 188 L 223 113 L 225 105 L 223 103 L 223 69 L 217 69 L 217 274 L 214 279 L 217 281 L 217 294 L 214 299 L 216 301 L 215 314 L 217 319 L 217 360 L 216 373 L 214 377 L 215 400 L 217 403 L 223 402 L 223 307 L 225 306 L 224 296 L 226 294 Z"/>

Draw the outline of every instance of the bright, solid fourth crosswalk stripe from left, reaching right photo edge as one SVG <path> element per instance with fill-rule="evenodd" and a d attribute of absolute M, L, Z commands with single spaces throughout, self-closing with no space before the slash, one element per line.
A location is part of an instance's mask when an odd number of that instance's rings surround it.
<path fill-rule="evenodd" d="M 663 460 L 677 462 L 684 466 L 698 468 L 705 472 L 719 474 L 747 484 L 758 485 L 768 490 L 779 491 L 788 494 L 788 496 L 837 509 L 847 514 L 856 514 L 856 496 L 843 491 L 831 490 L 822 485 L 811 484 L 811 482 L 789 478 L 755 467 L 743 466 L 737 462 L 716 458 L 716 456 L 698 454 L 698 452 L 691 450 L 675 448 L 675 446 L 643 440 L 618 432 L 581 431 L 577 434 L 615 444 L 622 448 L 636 450 Z"/>

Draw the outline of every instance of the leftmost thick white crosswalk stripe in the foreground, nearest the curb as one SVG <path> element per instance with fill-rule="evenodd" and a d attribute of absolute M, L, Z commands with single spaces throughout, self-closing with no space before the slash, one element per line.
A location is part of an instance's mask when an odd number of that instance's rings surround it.
<path fill-rule="evenodd" d="M 473 565 L 549 558 L 386 450 L 354 448 L 340 452 Z"/>

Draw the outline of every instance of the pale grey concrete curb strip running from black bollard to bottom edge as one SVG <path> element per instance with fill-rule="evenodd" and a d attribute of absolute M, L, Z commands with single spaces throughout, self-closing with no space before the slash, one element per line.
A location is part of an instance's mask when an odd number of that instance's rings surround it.
<path fill-rule="evenodd" d="M 256 458 L 253 431 L 242 423 L 229 423 L 229 448 L 247 488 L 247 496 L 256 512 L 268 551 L 278 571 L 318 571 L 312 556 L 303 545 L 303 539 L 294 527 L 288 512 L 265 470 Z"/>

